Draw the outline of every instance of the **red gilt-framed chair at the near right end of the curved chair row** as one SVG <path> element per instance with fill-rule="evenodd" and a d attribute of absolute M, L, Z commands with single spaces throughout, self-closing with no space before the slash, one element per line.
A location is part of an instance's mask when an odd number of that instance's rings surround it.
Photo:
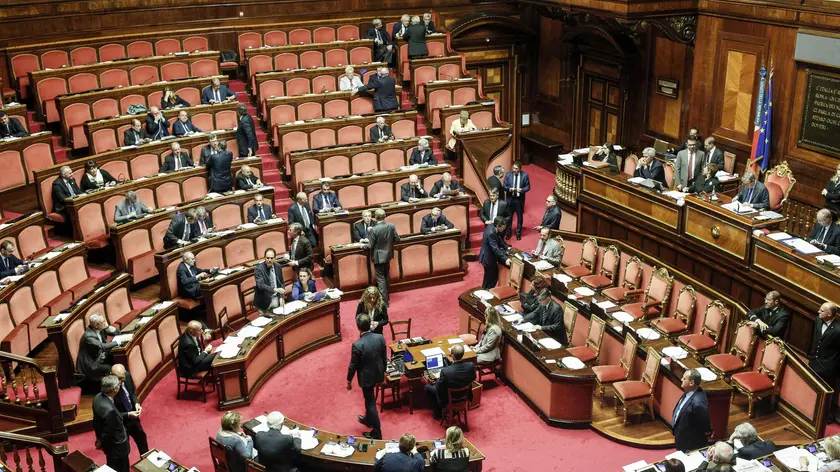
<path fill-rule="evenodd" d="M 785 343 L 779 338 L 770 337 L 761 351 L 761 363 L 758 370 L 740 372 L 732 376 L 732 401 L 735 401 L 735 392 L 743 393 L 749 401 L 749 417 L 753 418 L 755 412 L 753 405 L 756 399 L 770 396 L 770 405 L 775 407 L 776 385 L 782 373 L 785 363 Z"/>

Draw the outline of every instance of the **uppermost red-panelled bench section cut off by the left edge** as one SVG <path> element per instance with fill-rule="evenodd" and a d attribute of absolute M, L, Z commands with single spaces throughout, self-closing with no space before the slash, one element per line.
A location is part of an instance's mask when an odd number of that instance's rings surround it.
<path fill-rule="evenodd" d="M 0 193 L 35 183 L 33 173 L 55 165 L 49 131 L 0 141 Z"/>

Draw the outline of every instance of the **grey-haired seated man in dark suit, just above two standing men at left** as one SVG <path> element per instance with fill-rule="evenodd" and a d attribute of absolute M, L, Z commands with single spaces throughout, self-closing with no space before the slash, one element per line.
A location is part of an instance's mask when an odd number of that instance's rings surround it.
<path fill-rule="evenodd" d="M 88 326 L 79 340 L 79 354 L 76 357 L 76 372 L 85 380 L 99 382 L 111 373 L 114 359 L 111 349 L 120 345 L 118 341 L 108 341 L 108 336 L 117 336 L 120 330 L 108 326 L 105 317 L 94 313 L 90 315 Z"/>

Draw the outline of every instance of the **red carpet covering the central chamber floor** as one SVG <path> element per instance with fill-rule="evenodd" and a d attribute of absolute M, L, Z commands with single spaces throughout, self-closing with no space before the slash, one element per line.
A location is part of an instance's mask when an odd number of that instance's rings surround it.
<path fill-rule="evenodd" d="M 541 169 L 526 168 L 531 175 L 526 228 L 539 224 L 546 195 L 554 185 L 554 176 Z M 531 249 L 537 235 L 523 231 L 516 246 Z M 438 336 L 456 333 L 457 297 L 481 283 L 482 269 L 470 263 L 467 277 L 459 283 L 409 292 L 395 293 L 389 310 L 392 319 L 412 319 L 413 336 Z M 266 383 L 251 406 L 240 409 L 245 418 L 279 410 L 286 416 L 324 431 L 361 435 L 364 428 L 356 422 L 363 412 L 362 394 L 344 388 L 350 344 L 357 339 L 354 314 L 356 301 L 341 304 L 342 341 L 310 353 L 287 365 Z M 387 329 L 386 329 L 387 332 Z M 390 340 L 390 336 L 388 336 Z M 151 446 L 165 450 L 187 466 L 212 470 L 208 436 L 214 436 L 222 413 L 216 409 L 215 395 L 208 403 L 176 401 L 175 377 L 163 379 L 143 403 L 142 423 Z M 408 408 L 389 409 L 381 414 L 383 434 L 398 438 L 410 432 L 419 438 L 436 438 L 444 429 L 432 419 L 428 409 L 409 415 Z M 622 446 L 590 430 L 564 430 L 547 426 L 505 386 L 485 389 L 481 407 L 470 413 L 468 438 L 486 456 L 485 471 L 614 471 L 639 459 L 655 460 L 670 451 L 651 451 Z M 94 460 L 104 456 L 93 447 L 92 432 L 70 438 L 71 450 L 79 449 Z M 138 457 L 132 444 L 132 458 Z"/>

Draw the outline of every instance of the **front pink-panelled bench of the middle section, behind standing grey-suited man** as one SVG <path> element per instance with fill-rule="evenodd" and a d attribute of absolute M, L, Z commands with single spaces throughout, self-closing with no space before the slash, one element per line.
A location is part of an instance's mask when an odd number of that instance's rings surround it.
<path fill-rule="evenodd" d="M 461 230 L 400 236 L 394 243 L 389 290 L 439 285 L 461 280 L 467 264 L 461 258 L 464 248 Z M 360 244 L 332 246 L 335 288 L 347 297 L 361 295 L 365 288 L 376 285 L 376 274 L 370 251 Z"/>

